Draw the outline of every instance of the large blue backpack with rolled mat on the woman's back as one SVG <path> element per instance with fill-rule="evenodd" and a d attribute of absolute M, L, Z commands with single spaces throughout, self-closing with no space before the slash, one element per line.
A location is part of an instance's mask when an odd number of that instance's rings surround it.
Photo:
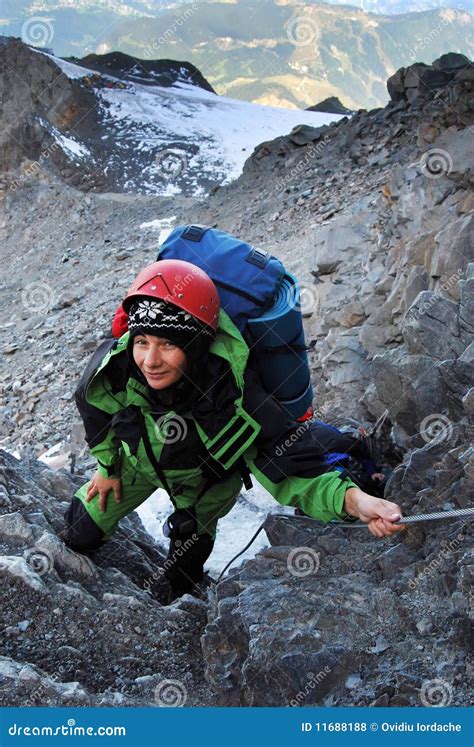
<path fill-rule="evenodd" d="M 312 413 L 313 390 L 299 286 L 279 259 L 217 228 L 178 226 L 158 259 L 181 259 L 214 281 L 222 308 L 254 351 L 262 384 L 294 420 Z"/>

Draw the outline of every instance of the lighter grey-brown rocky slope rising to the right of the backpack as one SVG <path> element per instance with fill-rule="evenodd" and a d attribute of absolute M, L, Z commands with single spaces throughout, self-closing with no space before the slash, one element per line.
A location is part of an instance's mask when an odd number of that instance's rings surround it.
<path fill-rule="evenodd" d="M 418 67 L 397 76 L 411 82 Z M 242 177 L 191 214 L 281 256 L 300 279 L 321 414 L 383 412 L 372 359 L 401 345 L 421 291 L 458 301 L 474 260 L 473 89 L 459 79 L 470 63 L 448 55 L 426 69 L 451 71 L 446 85 L 261 144 Z"/>

